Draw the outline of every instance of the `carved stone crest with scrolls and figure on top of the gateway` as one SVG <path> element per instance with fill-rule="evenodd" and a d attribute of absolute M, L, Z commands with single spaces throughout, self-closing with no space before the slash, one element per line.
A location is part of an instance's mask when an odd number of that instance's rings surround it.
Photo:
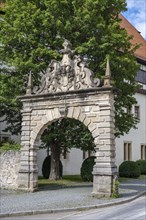
<path fill-rule="evenodd" d="M 74 51 L 71 50 L 71 43 L 68 40 L 65 39 L 63 47 L 61 62 L 51 60 L 46 72 L 40 73 L 40 85 L 34 87 L 31 93 L 66 92 L 96 88 L 100 85 L 100 80 L 93 79 L 93 72 L 87 68 L 82 57 L 80 55 L 73 56 Z"/>

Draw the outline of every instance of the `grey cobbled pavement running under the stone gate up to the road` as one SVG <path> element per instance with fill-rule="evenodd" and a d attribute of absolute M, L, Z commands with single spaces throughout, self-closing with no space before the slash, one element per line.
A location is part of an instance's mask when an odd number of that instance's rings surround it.
<path fill-rule="evenodd" d="M 1 190 L 0 217 L 81 210 L 128 202 L 146 193 L 146 179 L 121 182 L 118 199 L 97 199 L 92 197 L 91 192 L 91 184 L 42 189 L 35 193 Z"/>

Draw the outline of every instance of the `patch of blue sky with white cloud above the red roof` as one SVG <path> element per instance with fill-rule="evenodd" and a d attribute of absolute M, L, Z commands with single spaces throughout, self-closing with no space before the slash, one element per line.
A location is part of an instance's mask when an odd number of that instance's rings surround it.
<path fill-rule="evenodd" d="M 146 40 L 146 0 L 126 0 L 126 2 L 128 10 L 122 14 Z"/>

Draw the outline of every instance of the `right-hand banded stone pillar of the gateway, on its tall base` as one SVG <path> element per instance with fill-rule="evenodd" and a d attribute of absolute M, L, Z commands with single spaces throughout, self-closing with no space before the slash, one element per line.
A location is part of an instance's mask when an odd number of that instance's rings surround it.
<path fill-rule="evenodd" d="M 98 198 L 111 197 L 113 180 L 117 175 L 115 165 L 114 95 L 107 93 L 100 100 L 99 137 L 96 143 L 96 163 L 93 168 L 93 192 Z"/>

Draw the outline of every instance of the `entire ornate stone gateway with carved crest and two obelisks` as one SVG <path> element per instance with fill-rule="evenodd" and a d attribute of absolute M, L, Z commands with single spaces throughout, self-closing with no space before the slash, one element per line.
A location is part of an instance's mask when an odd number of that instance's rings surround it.
<path fill-rule="evenodd" d="M 40 73 L 37 87 L 33 87 L 30 73 L 26 95 L 20 97 L 23 110 L 18 188 L 28 191 L 38 188 L 37 150 L 41 134 L 53 121 L 68 117 L 84 123 L 94 138 L 96 163 L 92 194 L 110 197 L 117 168 L 114 89 L 110 84 L 109 62 L 101 86 L 85 61 L 74 55 L 68 40 L 63 47 L 61 62 L 51 61 L 46 72 Z"/>

